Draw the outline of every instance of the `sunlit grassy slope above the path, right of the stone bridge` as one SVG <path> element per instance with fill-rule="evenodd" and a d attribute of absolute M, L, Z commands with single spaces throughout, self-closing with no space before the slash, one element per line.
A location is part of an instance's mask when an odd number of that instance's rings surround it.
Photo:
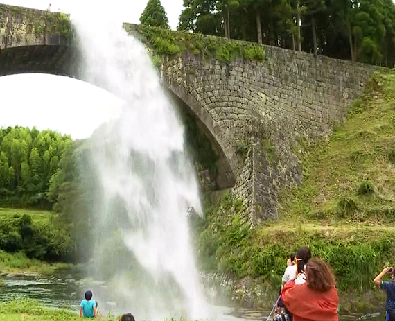
<path fill-rule="evenodd" d="M 376 73 L 326 144 L 295 150 L 303 183 L 283 193 L 281 216 L 299 221 L 395 221 L 395 72 Z"/>

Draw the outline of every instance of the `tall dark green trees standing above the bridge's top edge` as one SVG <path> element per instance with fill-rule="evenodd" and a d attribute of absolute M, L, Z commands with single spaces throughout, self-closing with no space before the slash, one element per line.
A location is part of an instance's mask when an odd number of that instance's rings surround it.
<path fill-rule="evenodd" d="M 141 24 L 168 28 L 159 0 Z M 392 0 L 184 0 L 178 30 L 394 67 Z"/>

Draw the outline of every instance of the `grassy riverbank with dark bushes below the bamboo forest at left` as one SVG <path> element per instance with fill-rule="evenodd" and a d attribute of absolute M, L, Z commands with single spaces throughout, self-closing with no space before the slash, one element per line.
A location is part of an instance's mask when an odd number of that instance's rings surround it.
<path fill-rule="evenodd" d="M 0 276 L 52 275 L 71 268 L 68 263 L 48 263 L 67 253 L 71 238 L 56 227 L 49 211 L 0 208 Z"/>

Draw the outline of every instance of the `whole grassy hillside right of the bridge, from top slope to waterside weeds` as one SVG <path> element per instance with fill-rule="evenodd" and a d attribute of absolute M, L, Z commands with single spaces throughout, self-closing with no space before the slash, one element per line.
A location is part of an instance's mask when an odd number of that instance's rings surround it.
<path fill-rule="evenodd" d="M 202 265 L 252 276 L 275 297 L 289 253 L 308 245 L 331 264 L 342 308 L 369 311 L 383 300 L 371 280 L 395 264 L 395 71 L 376 73 L 327 142 L 301 139 L 295 153 L 303 182 L 283 191 L 280 221 L 250 228 L 243 202 L 228 194 L 208 207 L 197 236 Z"/>

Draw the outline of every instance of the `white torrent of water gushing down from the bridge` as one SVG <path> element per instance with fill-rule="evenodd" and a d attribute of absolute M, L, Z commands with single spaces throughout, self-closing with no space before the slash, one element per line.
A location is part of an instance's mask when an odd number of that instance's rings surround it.
<path fill-rule="evenodd" d="M 94 132 L 80 164 L 95 191 L 88 276 L 105 284 L 94 297 L 139 320 L 207 318 L 187 218 L 191 207 L 202 209 L 183 126 L 146 49 L 108 16 L 71 15 L 82 78 L 123 100 L 119 119 Z"/>

